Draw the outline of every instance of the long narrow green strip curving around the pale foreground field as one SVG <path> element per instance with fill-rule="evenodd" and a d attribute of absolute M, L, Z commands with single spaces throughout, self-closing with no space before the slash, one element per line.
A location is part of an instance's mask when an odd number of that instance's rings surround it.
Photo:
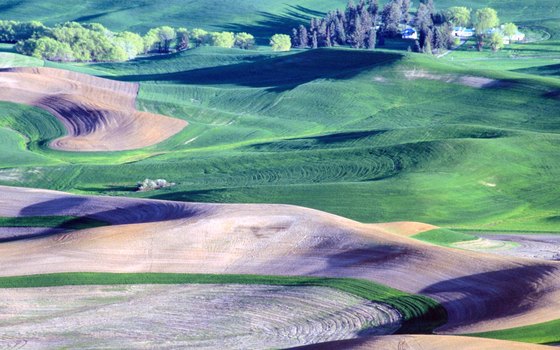
<path fill-rule="evenodd" d="M 374 282 L 352 278 L 173 273 L 57 273 L 0 277 L 0 288 L 118 284 L 263 284 L 321 286 L 338 289 L 361 298 L 393 306 L 399 310 L 404 319 L 399 333 L 431 333 L 433 329 L 444 324 L 447 319 L 445 309 L 430 298 L 408 294 Z"/>

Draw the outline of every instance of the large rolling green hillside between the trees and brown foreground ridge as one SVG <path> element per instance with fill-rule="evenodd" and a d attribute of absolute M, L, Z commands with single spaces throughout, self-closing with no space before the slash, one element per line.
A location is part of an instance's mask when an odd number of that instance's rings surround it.
<path fill-rule="evenodd" d="M 143 155 L 42 151 L 75 164 L 3 183 L 131 195 L 137 181 L 165 178 L 177 186 L 147 195 L 555 230 L 554 79 L 352 50 L 203 49 L 94 68 L 141 82 L 139 107 L 186 119 L 188 131 Z"/>

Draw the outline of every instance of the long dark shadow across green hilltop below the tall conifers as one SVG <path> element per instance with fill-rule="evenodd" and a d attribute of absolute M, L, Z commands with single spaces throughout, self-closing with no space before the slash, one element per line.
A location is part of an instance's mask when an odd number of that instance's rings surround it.
<path fill-rule="evenodd" d="M 128 75 L 122 81 L 157 81 L 189 85 L 232 85 L 282 92 L 317 79 L 350 79 L 364 70 L 394 64 L 396 53 L 318 49 L 266 58 L 257 62 L 174 73 Z"/>

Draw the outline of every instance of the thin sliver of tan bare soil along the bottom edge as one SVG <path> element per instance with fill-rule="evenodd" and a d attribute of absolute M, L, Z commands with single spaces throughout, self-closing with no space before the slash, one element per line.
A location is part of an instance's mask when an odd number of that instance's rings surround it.
<path fill-rule="evenodd" d="M 301 350 L 322 349 L 395 349 L 395 350 L 539 350 L 556 349 L 552 346 L 526 344 L 506 340 L 483 339 L 448 335 L 389 335 L 383 337 L 342 340 L 302 346 Z"/>

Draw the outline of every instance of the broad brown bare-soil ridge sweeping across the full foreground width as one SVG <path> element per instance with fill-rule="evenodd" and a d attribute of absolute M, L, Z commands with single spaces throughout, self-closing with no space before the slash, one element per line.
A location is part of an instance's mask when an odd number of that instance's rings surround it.
<path fill-rule="evenodd" d="M 152 271 L 358 277 L 439 300 L 449 313 L 441 332 L 560 318 L 557 262 L 437 247 L 393 234 L 387 225 L 293 206 L 83 197 L 10 187 L 0 192 L 2 216 L 87 214 L 118 217 L 122 224 L 0 244 L 0 275 Z"/>

